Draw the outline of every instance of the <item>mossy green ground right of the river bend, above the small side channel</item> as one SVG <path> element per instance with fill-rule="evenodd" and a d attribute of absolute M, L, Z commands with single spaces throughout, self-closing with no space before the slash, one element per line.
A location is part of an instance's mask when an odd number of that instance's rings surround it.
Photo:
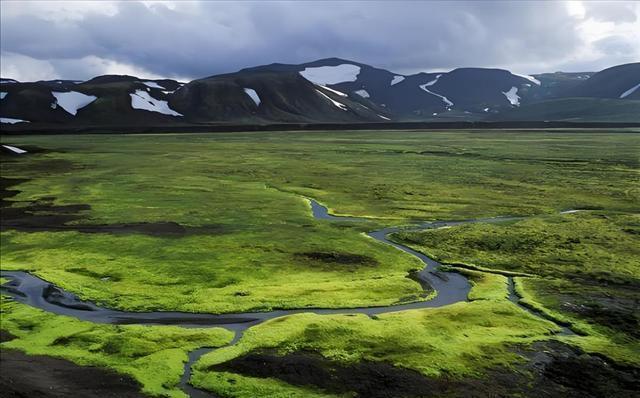
<path fill-rule="evenodd" d="M 587 351 L 624 362 L 640 350 L 640 215 L 603 211 L 467 224 L 394 236 L 447 264 L 523 272 L 524 302 L 590 336 Z"/>

